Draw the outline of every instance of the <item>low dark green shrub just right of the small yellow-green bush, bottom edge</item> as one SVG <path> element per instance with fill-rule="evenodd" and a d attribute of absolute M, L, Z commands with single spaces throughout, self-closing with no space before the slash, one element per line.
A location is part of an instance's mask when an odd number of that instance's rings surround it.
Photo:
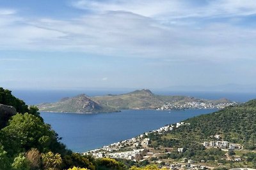
<path fill-rule="evenodd" d="M 92 160 L 92 158 L 91 158 Z M 63 169 L 72 167 L 86 167 L 87 169 L 95 170 L 95 166 L 92 161 L 88 160 L 85 156 L 79 153 L 72 153 L 63 157 Z"/>

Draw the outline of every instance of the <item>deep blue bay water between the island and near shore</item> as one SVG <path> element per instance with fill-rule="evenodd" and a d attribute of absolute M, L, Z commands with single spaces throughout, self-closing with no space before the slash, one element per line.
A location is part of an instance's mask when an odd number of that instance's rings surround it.
<path fill-rule="evenodd" d="M 41 116 L 45 123 L 51 124 L 67 148 L 74 152 L 86 152 L 213 111 L 216 109 L 122 110 L 97 114 L 41 112 Z"/>

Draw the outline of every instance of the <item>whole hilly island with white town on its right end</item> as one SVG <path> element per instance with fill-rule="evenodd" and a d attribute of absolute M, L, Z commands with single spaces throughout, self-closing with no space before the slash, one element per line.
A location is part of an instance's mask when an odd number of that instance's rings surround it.
<path fill-rule="evenodd" d="M 56 103 L 38 104 L 40 111 L 64 113 L 108 113 L 120 110 L 182 110 L 225 108 L 237 103 L 228 99 L 207 100 L 189 96 L 162 96 L 148 89 L 127 94 L 90 97 L 80 94 L 65 97 Z"/>

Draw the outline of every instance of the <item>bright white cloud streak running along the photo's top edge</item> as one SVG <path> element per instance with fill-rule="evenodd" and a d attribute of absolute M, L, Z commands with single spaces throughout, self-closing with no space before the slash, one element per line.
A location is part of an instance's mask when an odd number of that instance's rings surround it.
<path fill-rule="evenodd" d="M 234 15 L 252 15 L 256 13 L 254 0 L 214 0 L 199 1 L 195 4 L 187 0 L 109 0 L 74 1 L 76 8 L 91 11 L 129 11 L 145 17 L 189 18 L 189 17 L 228 17 Z M 201 4 L 200 4 L 201 3 Z"/>

